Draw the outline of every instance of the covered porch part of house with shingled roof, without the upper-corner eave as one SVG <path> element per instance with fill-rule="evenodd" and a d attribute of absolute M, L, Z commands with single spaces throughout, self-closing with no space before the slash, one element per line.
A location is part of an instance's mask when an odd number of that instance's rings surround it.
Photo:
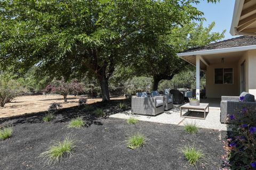
<path fill-rule="evenodd" d="M 200 71 L 206 72 L 206 97 L 256 96 L 256 36 L 241 36 L 178 54 L 196 66 L 196 95 L 200 98 Z"/>

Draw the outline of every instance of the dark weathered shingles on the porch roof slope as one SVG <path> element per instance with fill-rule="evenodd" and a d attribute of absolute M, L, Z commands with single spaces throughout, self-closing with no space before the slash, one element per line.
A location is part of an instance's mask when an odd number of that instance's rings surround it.
<path fill-rule="evenodd" d="M 212 43 L 206 46 L 190 48 L 190 49 L 184 50 L 181 53 L 197 52 L 197 51 L 211 50 L 211 49 L 251 46 L 251 45 L 256 45 L 256 36 L 241 36 L 241 37 L 226 39 L 226 40 L 222 40 L 217 43 Z"/>

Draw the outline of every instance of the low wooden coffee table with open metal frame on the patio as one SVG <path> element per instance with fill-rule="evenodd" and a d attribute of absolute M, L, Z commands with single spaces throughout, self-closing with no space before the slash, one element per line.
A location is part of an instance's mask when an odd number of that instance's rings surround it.
<path fill-rule="evenodd" d="M 190 106 L 189 103 L 187 103 L 185 105 L 180 106 L 180 117 L 198 118 L 198 119 L 205 120 L 205 117 L 206 117 L 205 113 L 206 113 L 207 108 L 208 108 L 207 113 L 209 113 L 209 103 L 200 103 L 199 106 Z M 184 116 L 184 115 L 182 115 L 182 109 L 188 109 L 188 112 L 189 112 L 189 109 L 190 110 L 196 110 L 196 111 L 204 111 L 204 117 L 201 118 L 201 117 L 193 117 L 193 116 Z"/>

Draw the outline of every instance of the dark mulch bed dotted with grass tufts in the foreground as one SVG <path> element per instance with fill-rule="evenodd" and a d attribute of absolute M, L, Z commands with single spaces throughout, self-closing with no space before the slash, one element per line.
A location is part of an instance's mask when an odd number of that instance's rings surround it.
<path fill-rule="evenodd" d="M 118 101 L 96 105 L 111 113 L 118 111 L 117 104 Z M 219 169 L 225 152 L 222 148 L 225 131 L 199 129 L 196 135 L 189 135 L 182 126 L 149 122 L 130 125 L 125 120 L 95 118 L 79 107 L 62 109 L 48 123 L 42 122 L 43 115 L 35 113 L 0 120 L 2 124 L 12 122 L 14 129 L 10 139 L 0 141 L 0 169 L 196 169 L 180 153 L 184 145 L 204 150 L 207 168 Z M 78 115 L 89 126 L 67 128 L 68 121 Z M 136 132 L 145 134 L 147 143 L 132 150 L 126 147 L 126 139 Z M 63 158 L 59 164 L 45 165 L 38 156 L 68 134 L 76 139 L 73 155 Z M 201 164 L 197 167 L 203 169 Z"/>

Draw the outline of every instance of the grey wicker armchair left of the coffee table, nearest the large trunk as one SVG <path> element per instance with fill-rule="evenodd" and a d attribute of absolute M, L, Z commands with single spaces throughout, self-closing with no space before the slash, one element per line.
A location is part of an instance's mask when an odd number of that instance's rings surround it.
<path fill-rule="evenodd" d="M 164 112 L 164 97 L 149 97 L 146 92 L 132 97 L 132 113 L 141 115 L 157 115 Z"/>

